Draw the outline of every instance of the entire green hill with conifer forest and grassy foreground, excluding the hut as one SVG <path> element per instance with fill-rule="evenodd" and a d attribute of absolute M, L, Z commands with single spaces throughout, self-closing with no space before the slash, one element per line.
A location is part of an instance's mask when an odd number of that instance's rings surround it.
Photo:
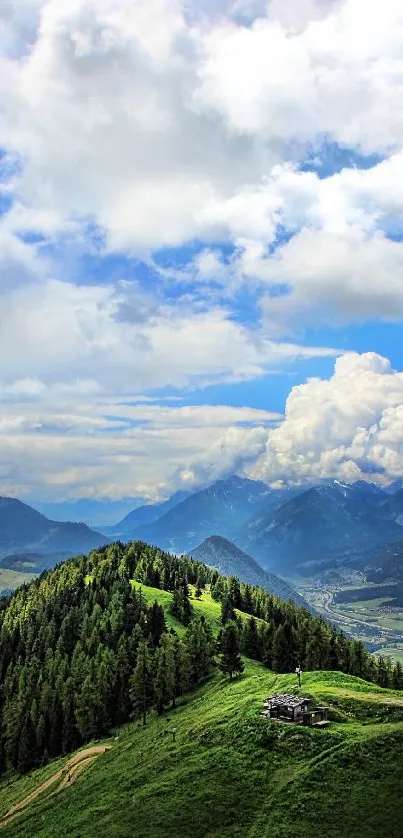
<path fill-rule="evenodd" d="M 245 661 L 232 681 L 217 666 L 228 609 Z M 374 681 L 400 684 L 401 667 L 298 606 L 117 543 L 3 600 L 0 627 L 5 836 L 400 836 L 403 691 Z M 260 715 L 267 695 L 298 690 L 293 650 L 328 729 Z"/>

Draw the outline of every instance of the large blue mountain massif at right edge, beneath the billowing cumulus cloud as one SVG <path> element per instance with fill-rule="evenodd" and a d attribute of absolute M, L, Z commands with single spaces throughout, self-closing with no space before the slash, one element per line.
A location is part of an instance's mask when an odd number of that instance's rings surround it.
<path fill-rule="evenodd" d="M 385 517 L 384 501 L 377 487 L 335 481 L 300 493 L 274 514 L 255 516 L 235 541 L 287 577 L 313 572 L 332 557 L 401 539 L 403 529 Z"/>

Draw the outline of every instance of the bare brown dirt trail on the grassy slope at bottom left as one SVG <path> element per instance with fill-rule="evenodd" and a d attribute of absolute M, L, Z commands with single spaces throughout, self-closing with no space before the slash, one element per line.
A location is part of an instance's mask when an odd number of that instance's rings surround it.
<path fill-rule="evenodd" d="M 20 800 L 19 803 L 14 803 L 0 820 L 0 828 L 2 826 L 8 826 L 9 823 L 23 813 L 30 803 L 36 800 L 40 794 L 43 794 L 48 791 L 48 789 L 51 789 L 52 786 L 56 786 L 56 788 L 53 789 L 51 795 L 58 794 L 59 791 L 62 791 L 62 789 L 71 786 L 78 774 L 81 774 L 85 768 L 94 762 L 97 756 L 104 754 L 105 751 L 109 751 L 111 747 L 112 745 L 93 745 L 91 748 L 83 748 L 83 750 L 78 751 L 78 753 L 74 754 L 73 757 L 70 757 L 70 759 L 67 760 L 63 768 L 59 768 L 58 771 L 55 771 L 51 777 L 48 777 L 42 785 L 31 791 L 26 797 L 24 797 L 23 800 Z"/>

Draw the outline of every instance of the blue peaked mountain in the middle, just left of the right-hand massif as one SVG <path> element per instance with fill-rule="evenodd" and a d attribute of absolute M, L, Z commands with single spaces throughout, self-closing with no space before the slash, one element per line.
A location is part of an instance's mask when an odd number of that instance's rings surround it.
<path fill-rule="evenodd" d="M 138 527 L 135 537 L 185 553 L 212 533 L 231 538 L 270 494 L 264 483 L 234 475 L 195 492 L 152 524 Z"/>

